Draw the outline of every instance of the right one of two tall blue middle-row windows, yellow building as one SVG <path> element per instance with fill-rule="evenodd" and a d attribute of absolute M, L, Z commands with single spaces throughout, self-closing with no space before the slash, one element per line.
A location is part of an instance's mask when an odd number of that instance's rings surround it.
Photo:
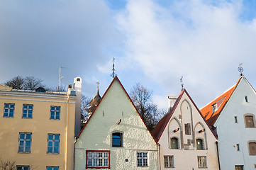
<path fill-rule="evenodd" d="M 60 154 L 60 135 L 48 134 L 48 154 Z"/>

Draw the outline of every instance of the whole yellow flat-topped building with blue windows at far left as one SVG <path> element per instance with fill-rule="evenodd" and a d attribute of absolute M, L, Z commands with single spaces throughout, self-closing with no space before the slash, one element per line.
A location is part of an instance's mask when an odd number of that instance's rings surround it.
<path fill-rule="evenodd" d="M 77 79 L 80 81 L 80 79 Z M 18 170 L 73 169 L 76 93 L 0 86 L 0 157 Z"/>

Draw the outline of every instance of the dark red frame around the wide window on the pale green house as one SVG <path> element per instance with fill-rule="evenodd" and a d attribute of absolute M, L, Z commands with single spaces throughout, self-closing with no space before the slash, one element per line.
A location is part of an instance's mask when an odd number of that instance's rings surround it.
<path fill-rule="evenodd" d="M 97 153 L 97 154 L 102 153 L 103 155 L 104 155 L 104 153 L 108 153 L 108 160 L 107 160 L 108 166 L 99 166 L 98 165 L 99 164 L 99 157 L 97 159 L 97 166 L 93 166 L 93 165 L 89 166 L 89 163 L 88 163 L 89 162 L 89 157 L 88 157 L 89 152 L 94 152 L 94 153 Z M 85 169 L 110 169 L 110 150 L 87 150 L 86 151 L 86 157 L 87 157 L 87 159 L 86 159 Z M 93 159 L 91 160 L 91 162 L 93 162 Z M 102 157 L 102 164 L 104 164 L 104 157 Z"/>

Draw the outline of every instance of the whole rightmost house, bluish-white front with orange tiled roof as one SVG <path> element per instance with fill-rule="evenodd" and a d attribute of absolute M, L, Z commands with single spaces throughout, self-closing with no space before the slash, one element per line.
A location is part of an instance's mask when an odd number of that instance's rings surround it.
<path fill-rule="evenodd" d="M 201 108 L 218 135 L 221 169 L 256 169 L 256 93 L 245 77 Z"/>

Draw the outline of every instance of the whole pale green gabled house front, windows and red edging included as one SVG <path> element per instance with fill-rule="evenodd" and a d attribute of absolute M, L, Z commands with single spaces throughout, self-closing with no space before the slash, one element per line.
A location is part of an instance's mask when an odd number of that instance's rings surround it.
<path fill-rule="evenodd" d="M 74 169 L 158 169 L 157 144 L 115 77 L 75 143 Z"/>

